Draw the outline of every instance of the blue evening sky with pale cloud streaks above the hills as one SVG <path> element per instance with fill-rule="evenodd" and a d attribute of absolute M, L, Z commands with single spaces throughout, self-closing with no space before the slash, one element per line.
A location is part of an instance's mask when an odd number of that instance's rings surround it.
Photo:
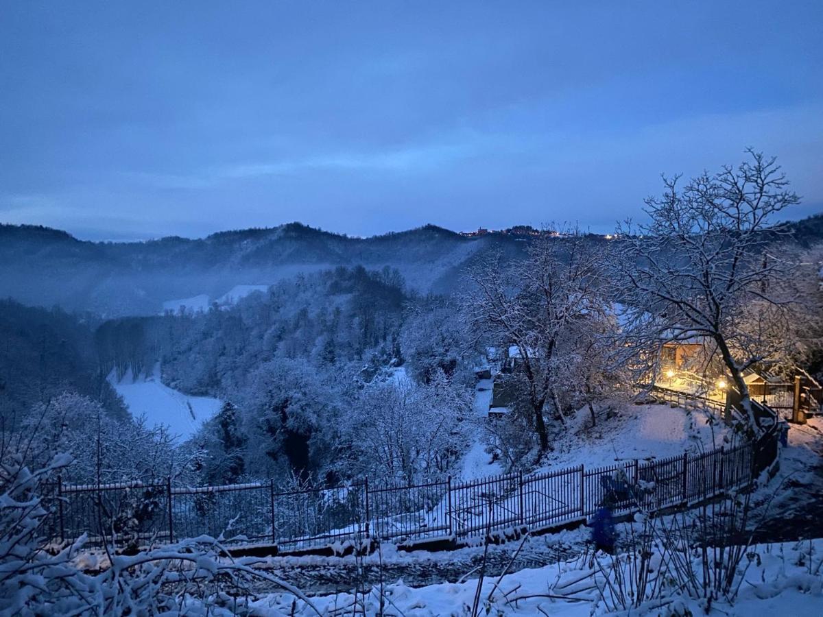
<path fill-rule="evenodd" d="M 800 218 L 823 211 L 821 32 L 821 0 L 0 0 L 0 222 L 608 231 L 661 172 L 746 146 Z"/>

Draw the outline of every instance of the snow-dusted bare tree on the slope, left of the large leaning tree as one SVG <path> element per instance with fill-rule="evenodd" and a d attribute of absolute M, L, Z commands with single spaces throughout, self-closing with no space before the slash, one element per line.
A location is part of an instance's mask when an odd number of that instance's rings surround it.
<path fill-rule="evenodd" d="M 470 291 L 463 300 L 467 326 L 495 345 L 516 349 L 518 391 L 528 404 L 540 455 L 550 448 L 544 410 L 562 418 L 558 384 L 563 347 L 574 328 L 604 310 L 602 259 L 577 229 L 542 234 L 525 260 L 500 257 L 469 271 Z"/>

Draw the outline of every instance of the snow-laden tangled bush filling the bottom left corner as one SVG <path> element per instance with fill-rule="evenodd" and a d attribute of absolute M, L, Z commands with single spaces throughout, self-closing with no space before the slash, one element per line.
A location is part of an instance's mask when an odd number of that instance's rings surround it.
<path fill-rule="evenodd" d="M 85 536 L 72 545 L 46 544 L 53 504 L 41 491 L 69 462 L 58 455 L 32 472 L 12 454 L 0 464 L 0 615 L 243 615 L 259 580 L 311 607 L 295 587 L 230 559 L 220 539 L 202 536 L 133 555 L 107 549 L 98 559 L 84 552 Z"/>

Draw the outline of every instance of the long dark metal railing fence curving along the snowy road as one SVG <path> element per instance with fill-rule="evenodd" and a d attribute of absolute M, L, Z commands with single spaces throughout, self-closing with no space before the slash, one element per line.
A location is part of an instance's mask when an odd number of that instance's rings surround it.
<path fill-rule="evenodd" d="M 608 499 L 630 513 L 693 503 L 751 482 L 777 457 L 777 434 L 732 448 L 651 462 L 584 466 L 524 476 L 421 485 L 341 485 L 277 491 L 273 481 L 175 487 L 157 484 L 54 488 L 57 508 L 49 532 L 91 544 L 150 545 L 207 534 L 230 545 L 316 548 L 371 537 L 397 543 L 483 536 L 486 531 L 538 529 L 583 521 Z"/>

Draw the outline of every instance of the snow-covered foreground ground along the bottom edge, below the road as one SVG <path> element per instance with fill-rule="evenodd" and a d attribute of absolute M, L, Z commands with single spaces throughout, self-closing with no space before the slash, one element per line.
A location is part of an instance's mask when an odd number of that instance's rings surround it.
<path fill-rule="evenodd" d="M 788 542 L 751 547 L 756 559 L 747 566 L 739 594 L 731 602 L 718 600 L 708 607 L 687 596 L 663 595 L 636 615 L 821 615 L 823 606 L 823 540 Z M 602 572 L 609 572 L 611 558 L 600 554 L 597 564 L 589 559 L 573 559 L 543 568 L 523 569 L 502 578 L 485 578 L 479 590 L 479 615 L 563 615 L 589 617 L 614 609 L 618 595 L 604 584 Z M 602 568 L 602 569 L 601 569 Z M 696 565 L 700 572 L 700 565 Z M 477 575 L 476 575 L 477 576 Z M 654 578 L 652 575 L 651 578 Z M 602 587 L 598 591 L 595 586 Z M 478 593 L 477 579 L 444 582 L 425 587 L 407 587 L 402 580 L 384 586 L 386 615 L 430 617 L 433 615 L 472 615 Z M 611 596 L 611 593 L 614 596 Z M 258 615 L 358 615 L 381 613 L 380 587 L 366 591 L 365 597 L 339 593 L 312 599 L 314 609 L 295 601 L 289 593 L 272 593 L 253 602 Z M 365 610 L 364 610 L 365 609 Z M 315 612 L 318 611 L 318 612 Z M 625 613 L 623 613 L 625 614 Z"/>

